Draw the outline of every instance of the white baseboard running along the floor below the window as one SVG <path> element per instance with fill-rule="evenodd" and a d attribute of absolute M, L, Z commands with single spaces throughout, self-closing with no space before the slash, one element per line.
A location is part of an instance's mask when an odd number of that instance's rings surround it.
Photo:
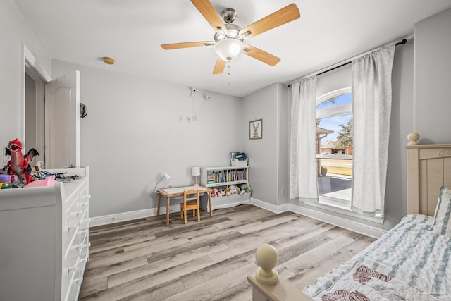
<path fill-rule="evenodd" d="M 291 211 L 293 213 L 301 214 L 303 216 L 310 217 L 311 219 L 317 219 L 319 221 L 323 221 L 325 223 L 330 223 L 331 225 L 338 226 L 341 228 L 345 228 L 350 231 L 354 231 L 356 233 L 360 233 L 366 236 L 370 236 L 372 238 L 380 238 L 387 231 L 382 230 L 380 228 L 376 228 L 373 226 L 368 226 L 364 223 L 358 223 L 357 221 L 350 221 L 347 219 L 343 219 L 338 216 L 333 216 L 330 214 L 326 214 L 323 212 L 315 211 L 312 209 L 308 209 L 305 207 L 299 207 L 295 204 L 283 204 L 283 205 L 274 205 L 268 204 L 267 202 L 263 202 L 259 199 L 251 198 L 251 204 L 266 209 L 268 211 L 274 213 L 282 213 L 285 211 Z"/>

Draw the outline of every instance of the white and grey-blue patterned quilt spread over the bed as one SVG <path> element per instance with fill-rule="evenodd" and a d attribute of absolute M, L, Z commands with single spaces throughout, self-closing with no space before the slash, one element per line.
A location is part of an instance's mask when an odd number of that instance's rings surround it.
<path fill-rule="evenodd" d="M 433 217 L 404 216 L 365 250 L 318 278 L 314 300 L 451 300 L 451 238 Z"/>

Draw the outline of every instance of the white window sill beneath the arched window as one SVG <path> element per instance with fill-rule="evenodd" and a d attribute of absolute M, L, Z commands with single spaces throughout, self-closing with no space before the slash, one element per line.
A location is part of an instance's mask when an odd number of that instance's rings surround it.
<path fill-rule="evenodd" d="M 347 216 L 352 216 L 355 219 L 362 219 L 364 221 L 371 221 L 373 223 L 383 224 L 383 218 L 380 217 L 370 217 L 362 216 L 351 210 L 351 202 L 344 201 L 342 199 L 334 199 L 332 197 L 319 196 L 319 202 L 304 202 L 311 207 L 316 207 L 320 209 L 325 209 L 328 211 L 333 211 L 338 214 L 344 214 Z"/>

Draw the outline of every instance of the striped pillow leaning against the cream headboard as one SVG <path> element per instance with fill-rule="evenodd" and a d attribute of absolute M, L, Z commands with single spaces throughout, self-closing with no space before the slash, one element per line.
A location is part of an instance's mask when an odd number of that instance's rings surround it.
<path fill-rule="evenodd" d="M 432 231 L 451 237 L 451 190 L 441 187 Z"/>

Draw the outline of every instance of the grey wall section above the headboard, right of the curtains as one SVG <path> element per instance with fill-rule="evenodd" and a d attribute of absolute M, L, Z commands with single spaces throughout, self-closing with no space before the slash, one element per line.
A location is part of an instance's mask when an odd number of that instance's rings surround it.
<path fill-rule="evenodd" d="M 420 143 L 450 143 L 451 10 L 416 23 L 415 131 Z M 412 129 L 413 130 L 413 129 Z"/>

